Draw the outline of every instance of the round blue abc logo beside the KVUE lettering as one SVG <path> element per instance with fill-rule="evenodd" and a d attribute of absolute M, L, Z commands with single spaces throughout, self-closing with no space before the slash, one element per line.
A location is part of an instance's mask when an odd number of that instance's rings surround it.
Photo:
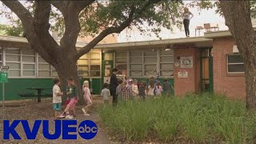
<path fill-rule="evenodd" d="M 92 139 L 98 133 L 98 127 L 93 121 L 86 120 L 78 126 L 78 133 L 84 139 Z"/>

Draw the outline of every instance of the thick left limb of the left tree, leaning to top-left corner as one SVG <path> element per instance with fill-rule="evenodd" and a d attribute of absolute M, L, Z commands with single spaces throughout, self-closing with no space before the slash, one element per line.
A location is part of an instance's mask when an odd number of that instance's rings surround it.
<path fill-rule="evenodd" d="M 30 46 L 38 52 L 46 60 L 46 62 L 54 65 L 54 61 L 50 57 L 50 55 L 43 49 L 41 45 L 39 45 L 40 38 L 35 33 L 34 25 L 33 25 L 33 17 L 28 10 L 22 5 L 22 3 L 15 1 L 3 1 L 2 3 L 5 4 L 7 7 L 10 8 L 21 19 L 24 33 L 26 34 L 26 39 L 30 43 Z"/>

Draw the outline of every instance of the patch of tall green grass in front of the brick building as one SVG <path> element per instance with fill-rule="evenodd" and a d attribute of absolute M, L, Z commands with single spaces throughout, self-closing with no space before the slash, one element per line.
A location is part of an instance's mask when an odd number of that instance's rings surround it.
<path fill-rule="evenodd" d="M 244 102 L 214 94 L 120 103 L 103 106 L 99 114 L 111 132 L 126 140 L 254 143 L 256 136 L 254 112 L 247 112 Z"/>

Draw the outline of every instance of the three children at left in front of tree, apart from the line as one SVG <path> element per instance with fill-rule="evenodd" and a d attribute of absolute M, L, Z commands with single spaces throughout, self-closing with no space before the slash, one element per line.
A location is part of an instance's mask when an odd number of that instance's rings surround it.
<path fill-rule="evenodd" d="M 59 78 L 54 78 L 54 87 L 53 87 L 53 108 L 54 108 L 54 120 L 58 118 L 69 118 L 76 119 L 77 115 L 75 112 L 75 105 L 78 102 L 78 86 L 74 83 L 74 78 L 67 78 L 67 86 L 66 86 L 66 108 L 62 114 L 60 111 L 62 110 L 62 96 L 63 92 L 61 91 Z M 82 86 L 83 90 L 83 98 L 86 102 L 86 107 L 82 108 L 84 115 L 88 116 L 86 110 L 92 105 L 92 95 L 90 94 L 89 82 L 83 82 Z"/>

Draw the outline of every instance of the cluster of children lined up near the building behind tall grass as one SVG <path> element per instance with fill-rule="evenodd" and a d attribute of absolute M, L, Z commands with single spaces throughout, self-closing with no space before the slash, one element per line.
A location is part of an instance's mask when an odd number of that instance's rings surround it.
<path fill-rule="evenodd" d="M 149 80 L 149 85 L 147 85 L 145 81 L 138 83 L 137 79 L 127 79 L 125 76 L 123 76 L 122 79 L 118 79 L 116 95 L 118 96 L 118 100 L 122 100 L 124 102 L 127 102 L 133 98 L 145 99 L 146 96 L 158 98 L 162 94 L 170 95 L 173 87 L 171 86 L 170 82 L 168 82 L 167 78 L 165 78 L 164 81 L 165 82 L 163 82 L 161 85 L 160 81 L 154 77 L 151 77 Z M 109 101 L 110 90 L 108 90 L 107 87 L 108 84 L 105 83 L 104 89 L 102 90 L 104 102 Z"/>

